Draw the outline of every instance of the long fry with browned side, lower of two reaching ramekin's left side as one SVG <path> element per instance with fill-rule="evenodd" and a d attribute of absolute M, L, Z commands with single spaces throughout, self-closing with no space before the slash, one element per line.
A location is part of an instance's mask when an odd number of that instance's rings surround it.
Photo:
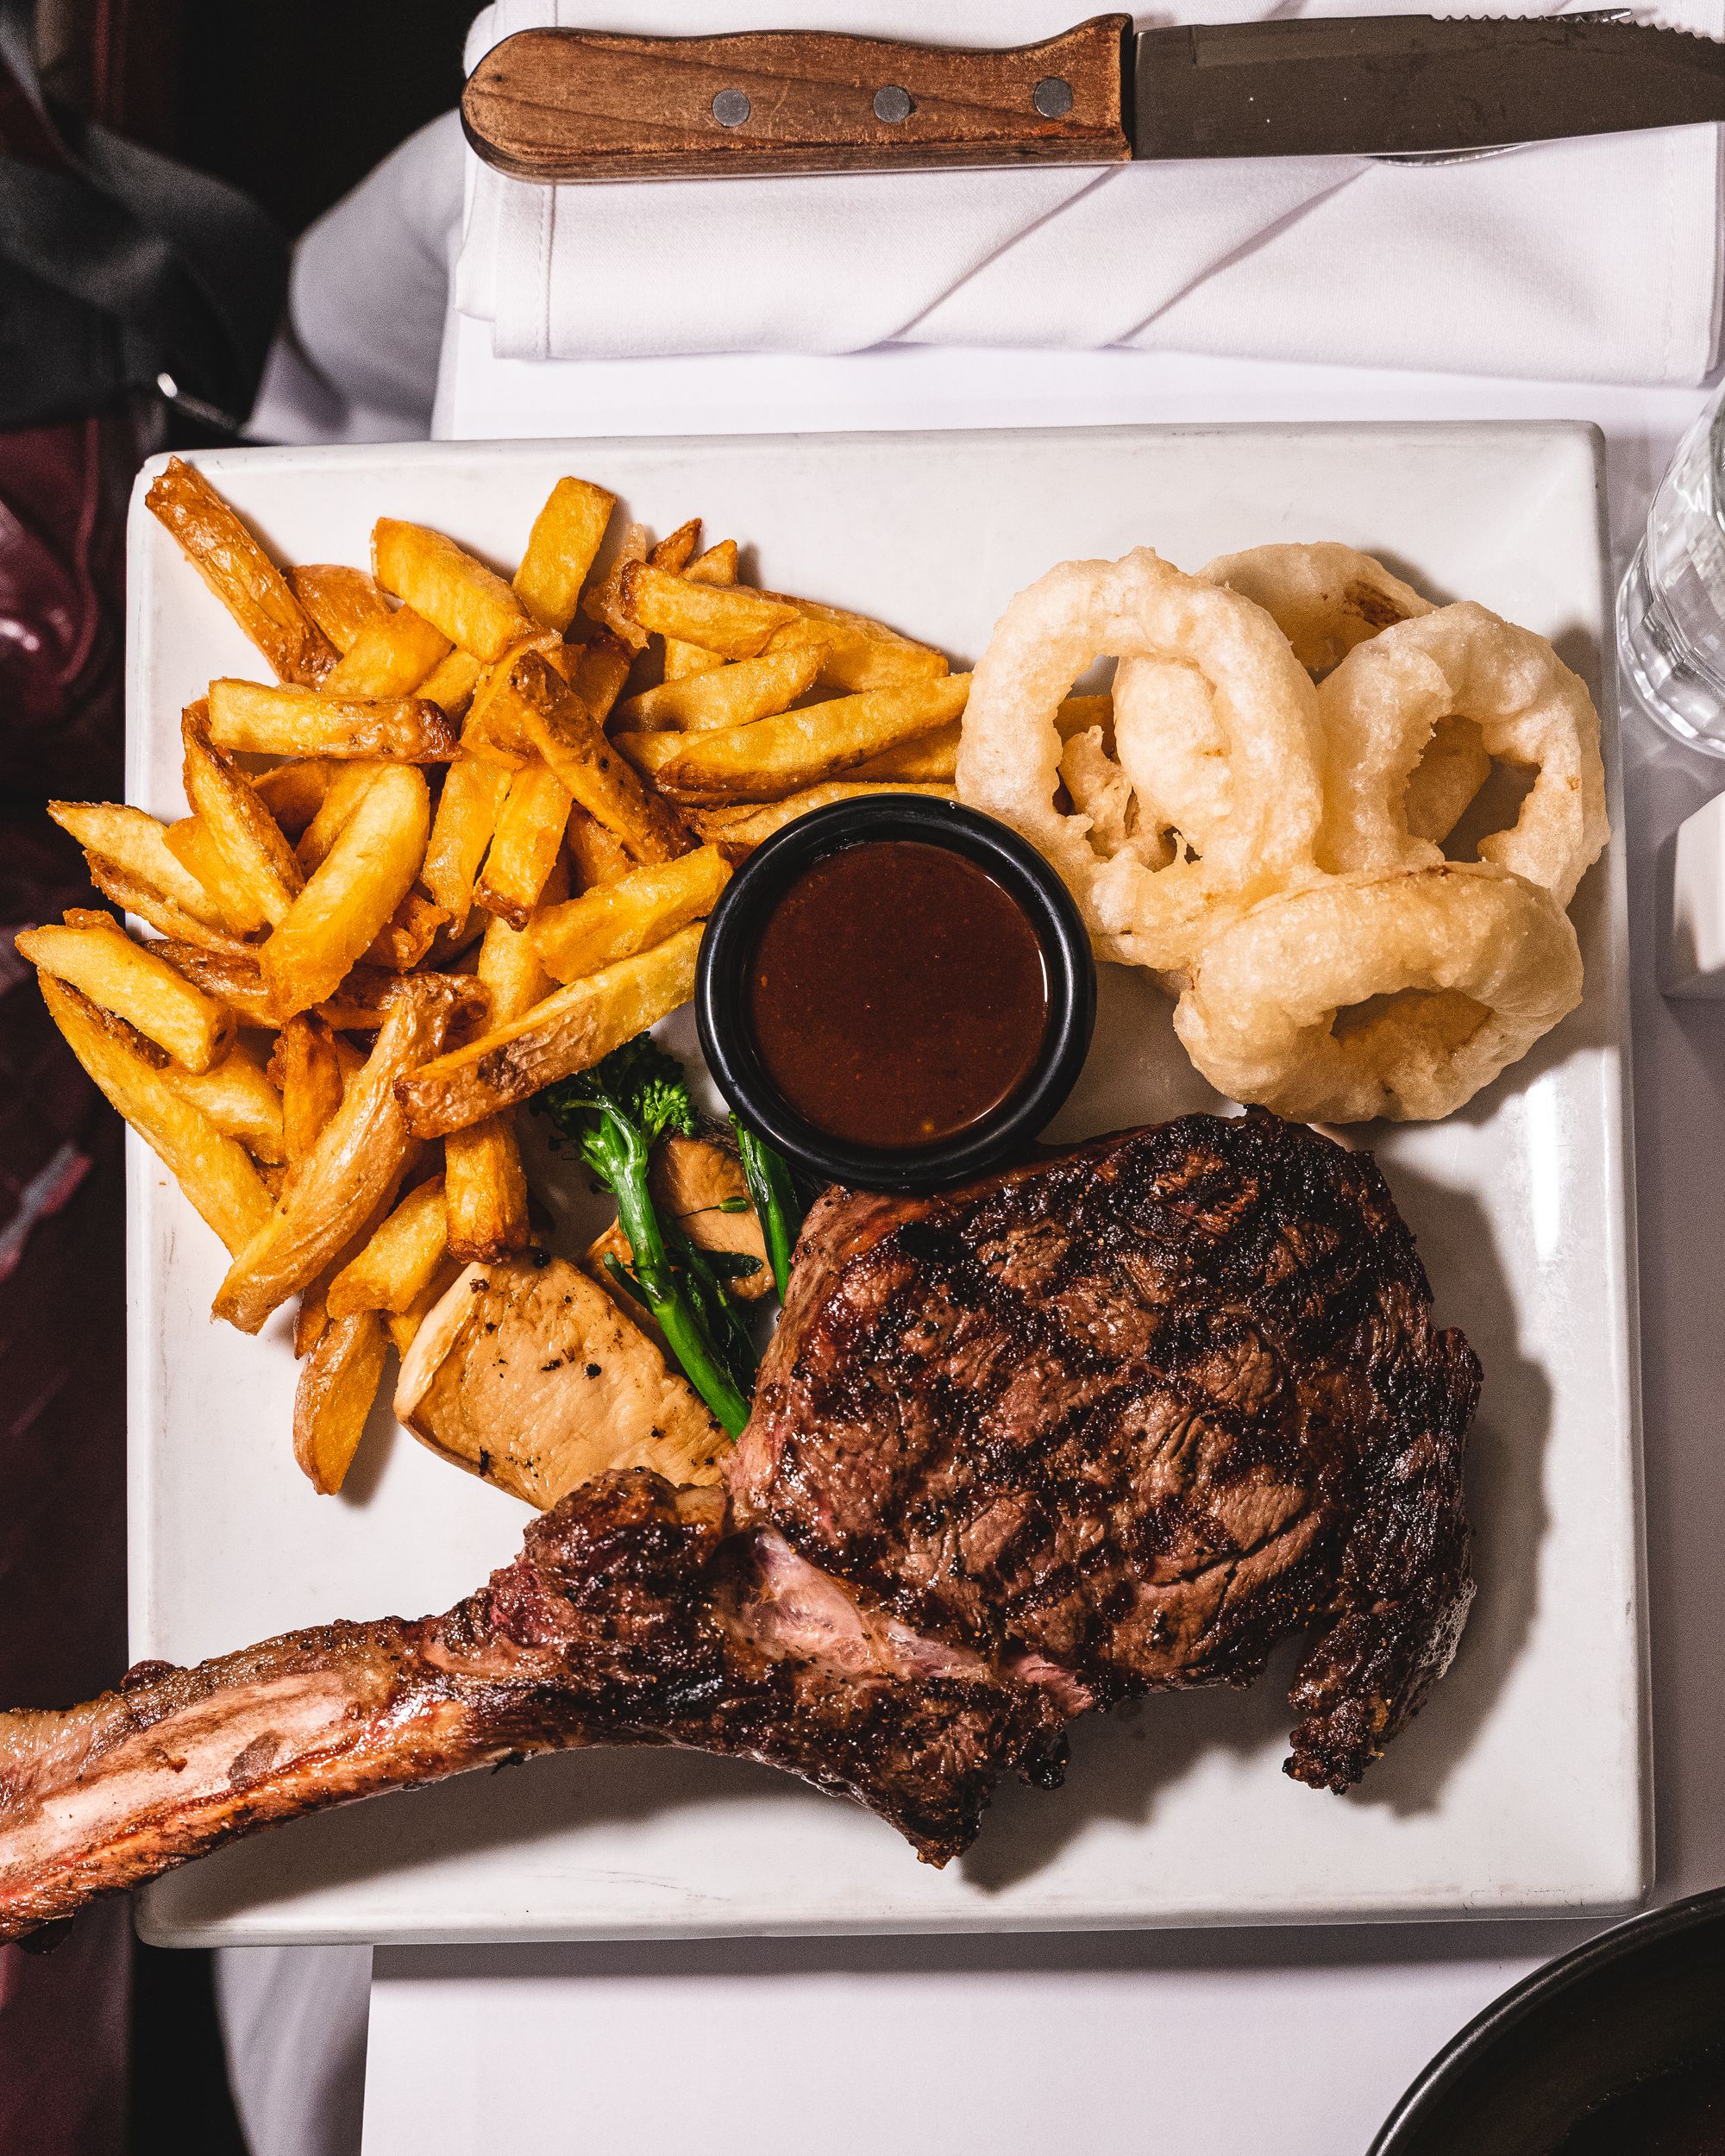
<path fill-rule="evenodd" d="M 414 1134 L 442 1138 L 466 1130 L 645 1033 L 666 1011 L 688 1003 L 699 949 L 699 927 L 677 929 L 651 951 L 571 981 L 513 1024 L 410 1072 L 401 1078 L 399 1097 Z"/>

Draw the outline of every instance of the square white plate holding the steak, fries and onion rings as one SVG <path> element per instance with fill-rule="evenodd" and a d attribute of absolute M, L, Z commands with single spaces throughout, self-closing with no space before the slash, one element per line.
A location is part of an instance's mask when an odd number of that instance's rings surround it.
<path fill-rule="evenodd" d="M 709 535 L 735 533 L 768 586 L 867 608 L 964 662 L 1007 597 L 1063 556 L 1149 541 L 1197 567 L 1268 539 L 1346 539 L 1434 597 L 1481 599 L 1555 638 L 1602 690 L 1600 444 L 1576 425 L 589 440 L 201 461 L 282 556 L 356 563 L 388 511 L 509 565 L 552 481 L 576 470 L 658 530 L 699 511 Z M 259 662 L 140 496 L 132 511 L 129 793 L 175 815 L 181 705 L 211 675 L 254 675 Z M 1587 877 L 1576 921 L 1583 1009 L 1462 1115 L 1374 1134 L 1438 1315 L 1466 1328 L 1486 1365 L 1471 1470 L 1479 1600 L 1455 1669 L 1350 1798 L 1281 1774 L 1289 1647 L 1251 1695 L 1151 1699 L 1080 1725 L 1065 1792 L 1005 1789 L 947 1871 L 787 1777 L 589 1753 L 239 1843 L 155 1884 L 147 1936 L 1078 1930 L 1639 1902 L 1650 1800 L 1619 847 Z M 1104 968 L 1095 1052 L 1057 1130 L 1205 1104 L 1162 998 Z M 134 1656 L 192 1662 L 328 1617 L 442 1608 L 509 1559 L 524 1507 L 384 1414 L 347 1492 L 310 1492 L 289 1445 L 285 1322 L 263 1341 L 209 1324 L 213 1235 L 136 1143 L 129 1175 Z"/>

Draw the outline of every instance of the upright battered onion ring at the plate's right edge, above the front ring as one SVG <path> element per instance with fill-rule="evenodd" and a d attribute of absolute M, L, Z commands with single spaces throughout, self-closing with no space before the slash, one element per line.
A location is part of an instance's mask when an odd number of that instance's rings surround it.
<path fill-rule="evenodd" d="M 1404 791 L 1432 729 L 1475 720 L 1490 757 L 1535 770 L 1512 830 L 1481 839 L 1479 858 L 1568 906 L 1598 860 L 1604 811 L 1600 716 L 1544 636 L 1464 599 L 1402 621 L 1354 651 L 1317 692 L 1324 718 L 1326 869 L 1427 867 L 1430 839 L 1408 828 Z"/>

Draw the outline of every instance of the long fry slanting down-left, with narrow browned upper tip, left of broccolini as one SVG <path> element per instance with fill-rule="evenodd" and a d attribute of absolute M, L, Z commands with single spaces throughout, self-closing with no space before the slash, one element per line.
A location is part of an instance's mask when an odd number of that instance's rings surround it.
<path fill-rule="evenodd" d="M 395 1080 L 436 1056 L 451 1020 L 479 1005 L 472 981 L 410 975 L 399 983 L 364 1069 L 300 1162 L 287 1194 L 229 1268 L 216 1315 L 257 1332 L 310 1287 L 341 1246 L 401 1184 L 412 1132 Z"/>

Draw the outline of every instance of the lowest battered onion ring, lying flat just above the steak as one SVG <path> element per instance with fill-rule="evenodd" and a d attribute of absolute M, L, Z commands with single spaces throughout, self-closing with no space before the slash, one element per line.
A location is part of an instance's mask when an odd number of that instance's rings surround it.
<path fill-rule="evenodd" d="M 1374 998 L 1389 1000 L 1337 1031 Z M 1317 1123 L 1430 1121 L 1578 1003 L 1576 931 L 1550 893 L 1443 862 L 1264 899 L 1208 946 L 1173 1024 L 1233 1100 Z"/>

